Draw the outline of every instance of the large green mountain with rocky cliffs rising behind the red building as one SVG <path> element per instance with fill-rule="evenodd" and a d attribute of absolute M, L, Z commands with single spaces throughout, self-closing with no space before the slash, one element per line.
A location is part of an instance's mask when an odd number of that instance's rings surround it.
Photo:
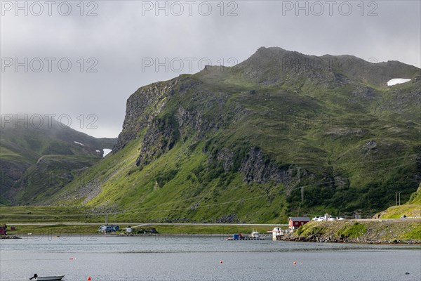
<path fill-rule="evenodd" d="M 113 154 L 49 202 L 149 221 L 374 214 L 420 183 L 420 88 L 403 63 L 260 48 L 138 89 Z"/>

